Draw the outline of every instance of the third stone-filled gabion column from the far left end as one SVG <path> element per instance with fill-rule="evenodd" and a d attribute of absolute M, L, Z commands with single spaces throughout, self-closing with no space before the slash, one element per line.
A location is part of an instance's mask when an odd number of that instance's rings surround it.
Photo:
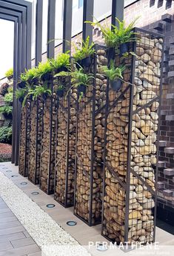
<path fill-rule="evenodd" d="M 52 86 L 53 81 L 49 82 Z M 54 193 L 56 152 L 56 95 L 43 97 L 43 127 L 39 187 L 47 194 Z"/>

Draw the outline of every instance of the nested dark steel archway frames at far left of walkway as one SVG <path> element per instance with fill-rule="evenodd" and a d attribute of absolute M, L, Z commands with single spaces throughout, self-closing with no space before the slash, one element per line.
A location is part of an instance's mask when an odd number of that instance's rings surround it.
<path fill-rule="evenodd" d="M 31 3 L 19 0 L 0 1 L 1 7 L 4 9 L 2 19 L 13 21 L 14 17 L 18 17 L 15 23 L 15 43 L 14 43 L 14 92 L 17 88 L 17 80 L 24 68 L 30 68 L 31 62 Z M 2 9 L 1 9 L 2 10 Z M 18 24 L 18 29 L 17 29 Z M 21 50 L 21 43 L 23 48 Z M 18 45 L 18 46 L 17 46 Z M 17 46 L 17 48 L 16 48 Z M 12 163 L 19 164 L 19 132 L 20 130 L 20 103 L 13 96 L 13 138 L 12 138 Z"/>

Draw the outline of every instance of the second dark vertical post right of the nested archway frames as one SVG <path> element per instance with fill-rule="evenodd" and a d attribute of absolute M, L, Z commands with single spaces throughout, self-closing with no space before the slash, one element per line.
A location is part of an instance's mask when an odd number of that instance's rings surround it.
<path fill-rule="evenodd" d="M 47 12 L 47 58 L 54 57 L 56 0 L 48 1 Z"/>

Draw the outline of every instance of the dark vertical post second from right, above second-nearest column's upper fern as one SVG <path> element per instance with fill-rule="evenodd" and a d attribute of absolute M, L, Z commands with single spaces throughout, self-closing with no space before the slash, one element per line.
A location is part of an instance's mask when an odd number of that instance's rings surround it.
<path fill-rule="evenodd" d="M 90 42 L 93 41 L 93 27 L 85 22 L 93 22 L 93 4 L 94 0 L 84 0 L 82 39 L 85 41 L 90 36 Z"/>

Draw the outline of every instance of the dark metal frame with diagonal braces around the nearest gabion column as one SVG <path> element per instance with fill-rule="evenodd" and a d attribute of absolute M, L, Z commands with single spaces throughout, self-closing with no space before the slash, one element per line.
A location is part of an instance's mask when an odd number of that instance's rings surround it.
<path fill-rule="evenodd" d="M 159 33 L 153 33 L 150 31 L 146 31 L 144 29 L 140 29 L 140 28 L 135 28 L 134 29 L 135 33 L 144 33 L 144 34 L 150 34 L 151 36 L 154 36 L 154 38 L 162 38 L 164 39 L 164 36 L 159 34 Z M 135 52 L 136 49 L 136 42 L 133 42 L 133 51 Z M 162 53 L 162 57 L 161 57 L 161 68 L 163 67 L 163 56 L 164 56 L 164 43 L 163 43 L 163 48 L 161 50 Z M 159 109 L 158 109 L 158 116 L 160 117 L 160 109 L 161 109 L 161 95 L 162 95 L 162 77 L 160 79 L 160 86 L 159 86 L 159 94 L 156 97 L 153 97 L 152 100 L 149 100 L 147 103 L 145 103 L 143 106 L 138 107 L 137 109 L 135 109 L 133 111 L 133 89 L 134 89 L 134 75 L 135 75 L 135 56 L 132 57 L 132 64 L 131 64 L 131 75 L 130 75 L 130 84 L 127 85 L 127 88 L 124 89 L 123 92 L 121 92 L 121 95 L 115 100 L 115 105 L 118 102 L 118 100 L 121 99 L 122 95 L 125 94 L 125 92 L 127 92 L 128 90 L 130 90 L 130 106 L 129 106 L 129 113 L 128 113 L 128 117 L 129 117 L 129 122 L 128 122 L 128 138 L 127 138 L 127 176 L 126 176 L 126 182 L 122 182 L 121 179 L 119 179 L 119 176 L 112 171 L 112 168 L 110 169 L 109 166 L 107 165 L 107 160 L 106 160 L 106 156 L 107 156 L 107 149 L 106 149 L 106 144 L 107 144 L 107 116 L 110 112 L 110 108 L 109 108 L 109 97 L 108 97 L 108 92 L 109 92 L 109 80 L 107 80 L 107 104 L 106 104 L 106 115 L 105 115 L 105 127 L 104 127 L 104 186 L 103 186 L 103 194 L 104 196 L 106 195 L 105 192 L 105 186 L 106 186 L 106 182 L 105 182 L 105 169 L 107 167 L 107 169 L 110 170 L 110 172 L 113 174 L 113 176 L 116 178 L 116 180 L 118 181 L 118 183 L 121 185 L 121 188 L 124 188 L 124 191 L 126 191 L 126 196 L 125 196 L 125 219 L 124 219 L 124 242 L 128 242 L 129 238 L 128 238 L 128 232 L 129 232 L 129 214 L 130 214 L 130 173 L 133 174 L 133 176 L 135 176 L 141 183 L 142 185 L 147 187 L 147 191 L 149 191 L 152 195 L 152 198 L 155 201 L 155 207 L 153 208 L 153 217 L 154 217 L 154 225 L 153 225 L 153 242 L 155 242 L 155 223 L 156 223 L 156 208 L 157 208 L 157 203 L 156 203 L 156 199 L 157 199 L 157 177 L 158 177 L 158 164 L 156 167 L 154 167 L 155 169 L 155 191 L 153 190 L 153 188 L 150 187 L 150 185 L 147 184 L 146 181 L 144 181 L 144 179 L 141 178 L 141 176 L 135 172 L 135 170 L 133 170 L 133 168 L 130 165 L 130 156 L 131 156 L 131 141 L 132 141 L 132 120 L 133 120 L 133 115 L 135 115 L 138 112 L 141 112 L 142 109 L 145 109 L 148 106 L 151 106 L 152 103 L 158 101 L 159 103 Z M 125 115 L 125 114 L 124 114 Z M 160 121 L 158 119 L 158 127 L 159 127 Z M 157 133 L 157 140 L 156 140 L 156 144 L 157 144 L 157 150 L 156 150 L 156 158 L 157 158 L 157 162 L 158 162 L 158 141 L 159 141 L 159 129 Z M 103 234 L 103 230 L 104 230 L 104 199 L 103 199 L 103 206 L 102 206 L 102 225 L 101 225 L 101 234 L 102 236 L 104 236 L 105 238 L 107 238 L 107 240 L 110 240 L 112 242 L 115 242 L 114 239 L 110 239 L 108 238 L 105 234 Z M 118 241 L 117 241 L 118 242 Z M 121 241 L 123 242 L 123 241 Z"/>

